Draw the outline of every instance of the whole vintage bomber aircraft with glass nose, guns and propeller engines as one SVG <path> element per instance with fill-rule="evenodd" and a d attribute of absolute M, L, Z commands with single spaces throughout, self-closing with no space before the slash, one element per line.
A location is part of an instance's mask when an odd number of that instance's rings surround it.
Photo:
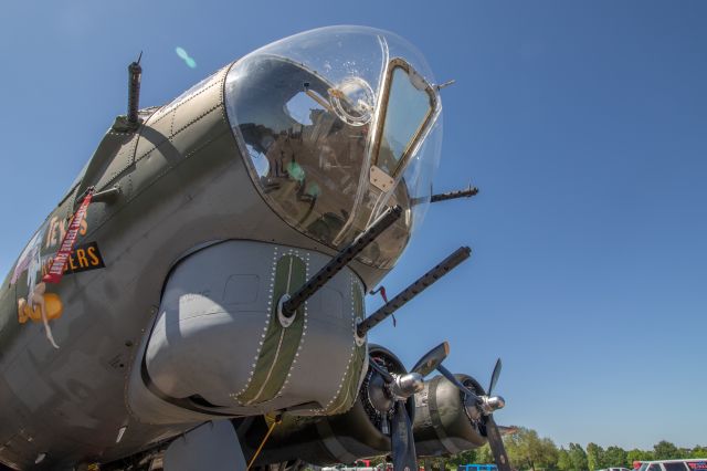
<path fill-rule="evenodd" d="M 1 465 L 412 470 L 489 442 L 509 470 L 499 362 L 484 389 L 442 365 L 446 343 L 408 369 L 367 342 L 469 257 L 366 315 L 429 203 L 475 193 L 431 195 L 442 86 L 420 53 L 314 30 L 144 109 L 139 62 L 0 290 Z"/>

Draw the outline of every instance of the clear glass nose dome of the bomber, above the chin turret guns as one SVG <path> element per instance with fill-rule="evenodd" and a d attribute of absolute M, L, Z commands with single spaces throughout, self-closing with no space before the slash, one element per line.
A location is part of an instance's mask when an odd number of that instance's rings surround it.
<path fill-rule="evenodd" d="M 390 268 L 422 220 L 440 157 L 432 80 L 401 38 L 331 27 L 235 62 L 225 103 L 256 188 L 295 229 L 339 250 L 400 205 L 403 218 L 359 257 Z"/>

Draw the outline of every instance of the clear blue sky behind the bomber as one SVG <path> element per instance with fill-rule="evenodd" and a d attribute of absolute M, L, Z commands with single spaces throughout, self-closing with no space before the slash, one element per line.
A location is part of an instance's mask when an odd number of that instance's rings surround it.
<path fill-rule="evenodd" d="M 449 339 L 483 384 L 503 356 L 497 421 L 558 444 L 707 444 L 707 3 L 183 3 L 3 1 L 0 268 L 125 113 L 140 50 L 147 106 L 282 36 L 379 27 L 456 78 L 435 189 L 481 193 L 433 206 L 386 285 L 472 260 L 372 339 L 409 366 Z"/>

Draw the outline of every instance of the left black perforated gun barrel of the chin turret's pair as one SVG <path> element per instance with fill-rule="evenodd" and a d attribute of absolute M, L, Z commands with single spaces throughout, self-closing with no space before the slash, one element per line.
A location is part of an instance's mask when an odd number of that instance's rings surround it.
<path fill-rule="evenodd" d="M 402 208 L 395 206 L 388 208 L 372 224 L 357 237 L 350 244 L 336 254 L 334 259 L 321 268 L 313 278 L 283 303 L 282 312 L 286 317 L 292 317 L 297 308 L 314 295 L 321 286 L 334 278 L 344 266 L 346 266 L 356 255 L 366 249 L 378 236 L 395 222 L 402 214 Z"/>

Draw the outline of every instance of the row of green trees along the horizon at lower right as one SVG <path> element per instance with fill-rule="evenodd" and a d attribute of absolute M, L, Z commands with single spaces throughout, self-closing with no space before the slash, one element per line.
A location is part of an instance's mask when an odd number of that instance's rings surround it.
<path fill-rule="evenodd" d="M 518 428 L 504 437 L 508 459 L 514 469 L 532 471 L 594 471 L 605 468 L 633 468 L 634 461 L 671 460 L 683 458 L 707 459 L 707 447 L 678 448 L 669 441 L 659 441 L 652 450 L 624 450 L 621 447 L 602 448 L 588 443 L 570 443 L 558 448 L 549 438 L 540 438 L 532 429 Z M 428 460 L 433 469 L 456 468 L 467 463 L 493 463 L 494 457 L 488 444 L 446 459 Z"/>

